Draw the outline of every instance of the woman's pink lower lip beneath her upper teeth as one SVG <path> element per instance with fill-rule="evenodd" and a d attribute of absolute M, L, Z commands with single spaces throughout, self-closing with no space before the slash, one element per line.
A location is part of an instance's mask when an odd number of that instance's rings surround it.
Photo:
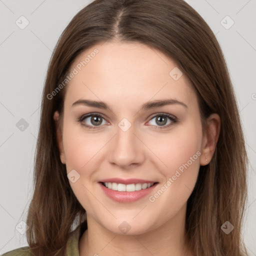
<path fill-rule="evenodd" d="M 99 182 L 99 185 L 102 187 L 104 193 L 109 198 L 117 202 L 134 202 L 136 200 L 139 200 L 140 198 L 152 192 L 156 184 L 157 183 L 154 183 L 152 186 L 145 189 L 141 189 L 133 192 L 127 192 L 127 191 L 112 190 L 110 188 L 105 187 L 101 182 Z"/>

